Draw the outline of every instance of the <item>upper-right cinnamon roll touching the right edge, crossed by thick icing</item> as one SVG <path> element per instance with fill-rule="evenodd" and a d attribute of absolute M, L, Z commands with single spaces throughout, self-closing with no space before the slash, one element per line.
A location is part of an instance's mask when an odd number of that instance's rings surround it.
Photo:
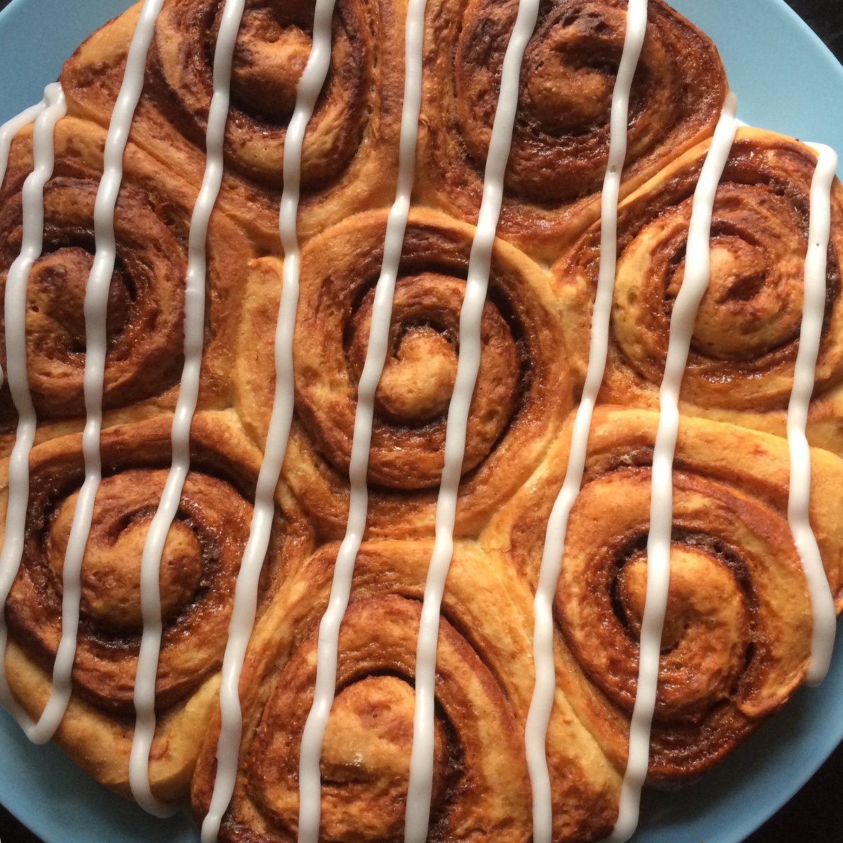
<path fill-rule="evenodd" d="M 692 196 L 708 142 L 618 211 L 618 266 L 602 400 L 656 408 L 674 299 L 685 276 Z M 789 137 L 738 132 L 714 203 L 711 282 L 695 321 L 680 409 L 784 435 L 802 323 L 808 211 L 817 153 Z M 843 188 L 831 196 L 826 305 L 808 440 L 843 454 Z M 577 382 L 588 365 L 600 233 L 593 226 L 553 269 Z"/>

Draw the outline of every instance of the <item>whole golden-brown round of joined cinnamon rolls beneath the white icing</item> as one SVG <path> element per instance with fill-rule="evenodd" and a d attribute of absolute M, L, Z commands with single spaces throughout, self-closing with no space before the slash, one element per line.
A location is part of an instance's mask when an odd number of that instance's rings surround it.
<path fill-rule="evenodd" d="M 629 751 L 647 578 L 652 451 L 690 206 L 728 92 L 711 41 L 650 0 L 631 88 L 609 356 L 554 601 L 547 735 L 553 835 L 615 824 Z M 82 566 L 73 693 L 56 741 L 129 795 L 139 569 L 164 487 L 184 362 L 191 212 L 205 169 L 221 0 L 165 0 L 124 157 L 109 293 L 103 481 Z M 341 626 L 321 756 L 322 840 L 401 840 L 416 636 L 434 536 L 445 421 L 502 58 L 518 3 L 429 0 L 416 182 L 389 349 L 375 396 L 368 526 Z M 83 299 L 105 131 L 140 4 L 67 61 L 43 255 L 26 341 L 38 414 L 24 552 L 5 616 L 13 695 L 37 717 L 62 631 L 62 568 L 83 482 Z M 338 0 L 330 71 L 303 142 L 295 408 L 239 693 L 234 797 L 221 840 L 298 835 L 299 745 L 319 620 L 348 517 L 357 384 L 398 175 L 407 9 Z M 153 793 L 207 813 L 234 588 L 274 396 L 282 294 L 282 155 L 314 3 L 247 3 L 234 51 L 225 172 L 207 239 L 206 324 L 191 472 L 164 545 Z M 533 597 L 588 368 L 609 108 L 624 0 L 551 0 L 521 70 L 502 216 L 481 317 L 438 643 L 430 840 L 533 834 L 524 727 L 534 689 Z M 739 94 L 739 92 L 738 92 Z M 0 290 L 21 242 L 32 128 L 0 184 Z M 672 573 L 648 779 L 706 771 L 787 702 L 808 669 L 812 610 L 787 523 L 787 401 L 802 320 L 817 153 L 744 129 L 711 226 L 674 461 Z M 843 609 L 843 188 L 831 201 L 826 309 L 808 417 L 810 518 Z M 0 326 L 6 330 L 5 314 Z M 0 363 L 6 366 L 5 346 Z M 0 389 L 5 519 L 17 411 Z"/>

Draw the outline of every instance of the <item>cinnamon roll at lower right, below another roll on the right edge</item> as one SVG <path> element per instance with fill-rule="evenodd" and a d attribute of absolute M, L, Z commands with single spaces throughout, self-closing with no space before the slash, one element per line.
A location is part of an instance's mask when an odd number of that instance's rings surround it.
<path fill-rule="evenodd" d="M 658 414 L 599 407 L 556 590 L 557 684 L 619 770 L 626 766 L 647 582 Z M 535 585 L 571 428 L 481 542 Z M 811 454 L 810 517 L 837 612 L 843 461 Z M 698 776 L 780 708 L 805 677 L 812 613 L 787 522 L 787 443 L 683 419 L 674 461 L 670 585 L 648 780 Z"/>

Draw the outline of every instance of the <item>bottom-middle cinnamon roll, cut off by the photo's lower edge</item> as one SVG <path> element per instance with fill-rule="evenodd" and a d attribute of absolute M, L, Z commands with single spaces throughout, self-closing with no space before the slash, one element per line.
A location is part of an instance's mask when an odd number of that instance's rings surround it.
<path fill-rule="evenodd" d="M 336 550 L 326 545 L 287 581 L 252 638 L 240 685 L 244 738 L 222 841 L 296 839 L 298 748 Z M 321 757 L 320 840 L 403 839 L 430 550 L 427 541 L 376 540 L 357 557 Z M 439 626 L 432 839 L 529 839 L 529 609 L 518 577 L 473 543 L 458 543 Z M 200 815 L 210 802 L 217 729 L 215 720 L 193 781 Z M 561 695 L 550 741 L 561 839 L 597 840 L 611 828 L 620 779 Z"/>

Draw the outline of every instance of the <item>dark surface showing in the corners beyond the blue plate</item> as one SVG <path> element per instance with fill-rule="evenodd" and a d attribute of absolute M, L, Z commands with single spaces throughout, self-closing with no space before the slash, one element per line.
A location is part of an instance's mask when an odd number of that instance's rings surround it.
<path fill-rule="evenodd" d="M 669 0 L 668 0 L 669 2 Z M 701 0 L 706 2 L 706 0 Z M 741 0 L 734 0 L 740 3 Z M 843 61 L 843 0 L 786 0 Z M 9 0 L 0 0 L 0 9 Z M 68 10 L 72 9 L 72 0 Z M 843 94 L 841 94 L 843 95 Z M 0 775 L 3 761 L 0 760 Z M 843 843 L 843 745 L 808 784 L 746 843 Z M 3 843 L 40 843 L 0 807 Z M 108 840 L 92 843 L 110 843 Z M 150 841 L 151 843 L 151 841 Z M 691 841 L 677 841 L 691 843 Z"/>

